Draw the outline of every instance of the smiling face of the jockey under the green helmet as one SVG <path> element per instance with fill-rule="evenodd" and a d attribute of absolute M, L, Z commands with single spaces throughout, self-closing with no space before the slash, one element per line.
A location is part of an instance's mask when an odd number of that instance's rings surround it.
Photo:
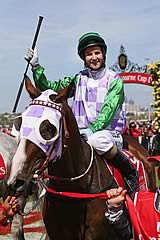
<path fill-rule="evenodd" d="M 98 70 L 104 65 L 104 56 L 102 49 L 98 46 L 88 47 L 84 52 L 86 67 L 92 70 Z"/>

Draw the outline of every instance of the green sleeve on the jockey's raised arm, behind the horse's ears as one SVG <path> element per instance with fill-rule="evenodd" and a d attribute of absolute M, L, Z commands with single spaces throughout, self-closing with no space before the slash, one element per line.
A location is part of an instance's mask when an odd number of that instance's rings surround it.
<path fill-rule="evenodd" d="M 33 79 L 36 87 L 40 91 L 45 91 L 46 89 L 53 89 L 58 91 L 68 87 L 71 82 L 75 82 L 78 79 L 78 76 L 65 77 L 63 80 L 59 79 L 58 81 L 50 81 L 46 78 L 44 74 L 44 67 L 38 66 L 36 69 L 33 69 Z"/>

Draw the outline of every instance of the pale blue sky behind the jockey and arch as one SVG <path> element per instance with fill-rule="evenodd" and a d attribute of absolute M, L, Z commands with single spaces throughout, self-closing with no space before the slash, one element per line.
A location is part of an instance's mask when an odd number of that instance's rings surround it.
<path fill-rule="evenodd" d="M 159 60 L 159 13 L 159 0 L 1 0 L 0 113 L 12 112 L 26 69 L 24 56 L 32 45 L 39 16 L 44 17 L 37 42 L 39 62 L 47 78 L 57 80 L 83 68 L 77 43 L 89 31 L 104 37 L 108 66 L 117 61 L 121 44 L 129 60 L 139 65 Z M 31 68 L 28 75 L 32 79 Z M 149 86 L 128 84 L 125 92 L 142 106 L 153 102 Z M 24 88 L 17 112 L 29 100 Z"/>

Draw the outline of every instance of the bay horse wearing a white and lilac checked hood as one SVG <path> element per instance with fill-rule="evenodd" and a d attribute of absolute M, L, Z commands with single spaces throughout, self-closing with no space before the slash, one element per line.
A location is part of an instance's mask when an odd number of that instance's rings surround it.
<path fill-rule="evenodd" d="M 14 194 L 23 202 L 35 175 L 44 176 L 46 168 L 46 189 L 55 192 L 99 194 L 117 187 L 106 162 L 80 136 L 66 101 L 70 91 L 41 93 L 27 76 L 25 85 L 32 100 L 16 126 L 20 141 L 8 178 Z M 105 199 L 64 197 L 48 191 L 43 215 L 49 239 L 118 240 L 105 218 L 106 210 Z"/>

